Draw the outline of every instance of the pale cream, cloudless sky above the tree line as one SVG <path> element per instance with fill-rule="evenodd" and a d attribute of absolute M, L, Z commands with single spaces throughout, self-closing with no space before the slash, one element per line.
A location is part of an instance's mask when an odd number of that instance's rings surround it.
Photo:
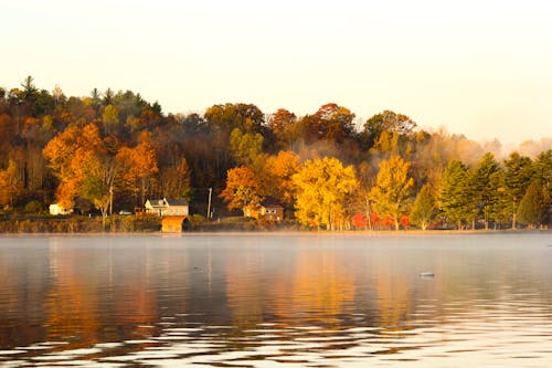
<path fill-rule="evenodd" d="M 552 1 L 0 0 L 0 86 L 131 90 L 164 113 L 384 109 L 503 144 L 552 137 Z"/>

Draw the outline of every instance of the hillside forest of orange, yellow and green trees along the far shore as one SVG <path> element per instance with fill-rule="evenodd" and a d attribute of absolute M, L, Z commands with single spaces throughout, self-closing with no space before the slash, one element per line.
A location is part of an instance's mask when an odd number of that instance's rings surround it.
<path fill-rule="evenodd" d="M 185 198 L 208 222 L 270 199 L 301 229 L 543 229 L 550 220 L 550 139 L 505 155 L 499 141 L 427 132 L 392 111 L 365 122 L 335 103 L 304 116 L 247 103 L 170 114 L 131 91 L 65 96 L 29 76 L 0 87 L 0 135 L 8 220 L 57 202 L 105 222 L 151 198 Z"/>

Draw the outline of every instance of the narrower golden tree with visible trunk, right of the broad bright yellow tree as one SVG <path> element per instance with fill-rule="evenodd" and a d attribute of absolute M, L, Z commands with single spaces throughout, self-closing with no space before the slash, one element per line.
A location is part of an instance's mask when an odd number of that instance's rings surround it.
<path fill-rule="evenodd" d="M 400 219 L 406 214 L 414 179 L 408 176 L 410 164 L 399 156 L 392 156 L 380 164 L 375 186 L 370 191 L 374 209 L 380 215 L 393 219 L 395 230 Z"/>

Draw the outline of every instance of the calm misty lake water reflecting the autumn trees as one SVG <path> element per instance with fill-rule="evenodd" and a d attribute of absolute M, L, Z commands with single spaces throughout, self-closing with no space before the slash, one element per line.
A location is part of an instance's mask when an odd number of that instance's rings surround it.
<path fill-rule="evenodd" d="M 4 235 L 0 366 L 552 367 L 552 235 Z"/>

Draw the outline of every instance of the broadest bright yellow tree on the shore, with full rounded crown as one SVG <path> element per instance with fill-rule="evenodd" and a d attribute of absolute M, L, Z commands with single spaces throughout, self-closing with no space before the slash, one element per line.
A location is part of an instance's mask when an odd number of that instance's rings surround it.
<path fill-rule="evenodd" d="M 308 227 L 335 230 L 344 223 L 359 182 L 352 166 L 343 167 L 337 158 L 307 160 L 293 176 L 297 188 L 296 218 Z"/>

